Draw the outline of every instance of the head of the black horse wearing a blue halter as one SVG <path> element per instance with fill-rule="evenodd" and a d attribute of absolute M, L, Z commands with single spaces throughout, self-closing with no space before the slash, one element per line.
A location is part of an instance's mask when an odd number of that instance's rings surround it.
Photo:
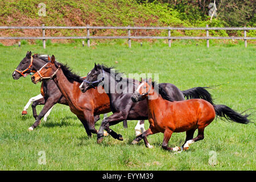
<path fill-rule="evenodd" d="M 103 75 L 102 75 L 103 74 Z M 86 92 L 86 90 L 90 88 L 95 88 L 104 80 L 104 69 L 96 63 L 94 64 L 94 68 L 88 73 L 82 84 L 79 86 L 82 92 Z"/>

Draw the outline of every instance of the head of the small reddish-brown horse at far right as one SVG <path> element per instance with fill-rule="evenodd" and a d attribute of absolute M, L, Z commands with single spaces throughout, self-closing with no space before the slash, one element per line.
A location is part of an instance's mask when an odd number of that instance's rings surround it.
<path fill-rule="evenodd" d="M 133 96 L 131 96 L 131 100 L 133 102 L 139 102 L 147 98 L 152 93 L 154 93 L 154 88 L 152 87 L 152 78 L 149 80 L 141 78 L 141 84 L 138 86 Z"/>

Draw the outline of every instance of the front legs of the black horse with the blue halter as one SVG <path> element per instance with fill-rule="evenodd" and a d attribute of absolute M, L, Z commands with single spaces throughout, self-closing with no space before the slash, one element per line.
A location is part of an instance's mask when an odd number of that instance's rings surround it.
<path fill-rule="evenodd" d="M 113 130 L 109 128 L 109 126 L 115 125 L 121 121 L 123 121 L 125 117 L 123 117 L 122 112 L 114 113 L 110 115 L 110 117 L 103 119 L 100 129 L 97 134 L 97 143 L 101 143 L 104 137 L 104 129 L 115 139 L 123 140 L 122 135 L 115 133 Z"/>

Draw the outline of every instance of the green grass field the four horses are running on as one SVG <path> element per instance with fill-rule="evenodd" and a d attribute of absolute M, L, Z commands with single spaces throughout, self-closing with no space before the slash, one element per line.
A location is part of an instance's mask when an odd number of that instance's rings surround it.
<path fill-rule="evenodd" d="M 256 47 L 175 46 L 134 43 L 132 48 L 118 44 L 81 47 L 79 44 L 0 47 L 0 169 L 1 170 L 255 170 L 255 124 L 241 125 L 215 119 L 205 129 L 205 139 L 193 143 L 188 151 L 174 154 L 161 148 L 163 134 L 150 135 L 152 149 L 143 141 L 131 145 L 137 121 L 112 126 L 124 140 L 106 137 L 96 143 L 96 135 L 86 136 L 76 115 L 68 106 L 55 105 L 47 122 L 34 131 L 31 107 L 21 111 L 28 99 L 39 94 L 40 84 L 30 76 L 13 80 L 11 74 L 27 51 L 55 55 L 81 76 L 94 62 L 115 65 L 120 72 L 159 73 L 160 82 L 170 82 L 181 90 L 195 86 L 220 85 L 209 90 L 216 104 L 237 111 L 254 107 L 256 102 Z M 115 63 L 118 61 L 118 63 Z M 38 112 L 42 106 L 37 107 Z M 247 111 L 250 113 L 251 111 Z M 251 116 L 255 121 L 255 116 Z M 96 129 L 101 121 L 96 123 Z M 146 121 L 146 129 L 148 122 Z M 197 134 L 197 131 L 195 135 Z M 174 133 L 169 146 L 183 144 L 185 133 Z M 46 154 L 46 165 L 38 164 L 40 151 Z M 210 165 L 210 151 L 216 152 L 217 164 Z"/>

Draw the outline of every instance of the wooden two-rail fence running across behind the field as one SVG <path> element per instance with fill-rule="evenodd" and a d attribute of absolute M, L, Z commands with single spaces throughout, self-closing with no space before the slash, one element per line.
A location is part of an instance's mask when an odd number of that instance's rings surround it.
<path fill-rule="evenodd" d="M 94 26 L 84 26 L 84 27 L 8 27 L 2 26 L 0 29 L 42 29 L 42 36 L 39 37 L 0 37 L 0 40 L 24 40 L 24 39 L 40 39 L 43 40 L 43 48 L 46 48 L 46 40 L 47 39 L 86 39 L 87 46 L 90 47 L 90 39 L 128 39 L 129 47 L 131 47 L 131 39 L 167 39 L 168 46 L 171 47 L 171 40 L 172 39 L 205 39 L 207 41 L 207 47 L 209 47 L 209 40 L 210 39 L 236 39 L 236 40 L 244 40 L 245 47 L 247 47 L 247 40 L 255 40 L 256 37 L 247 37 L 246 31 L 247 30 L 256 30 L 255 27 L 94 27 Z M 87 35 L 86 36 L 46 36 L 47 29 L 86 29 Z M 127 30 L 127 36 L 90 36 L 90 29 L 122 29 Z M 166 30 L 168 31 L 168 36 L 131 36 L 131 30 Z M 206 31 L 206 36 L 171 36 L 172 30 L 204 30 Z M 243 37 L 216 37 L 216 36 L 209 36 L 209 30 L 236 30 L 236 31 L 243 31 Z M 19 43 L 20 46 L 20 43 Z M 84 41 L 83 41 L 84 46 Z"/>

